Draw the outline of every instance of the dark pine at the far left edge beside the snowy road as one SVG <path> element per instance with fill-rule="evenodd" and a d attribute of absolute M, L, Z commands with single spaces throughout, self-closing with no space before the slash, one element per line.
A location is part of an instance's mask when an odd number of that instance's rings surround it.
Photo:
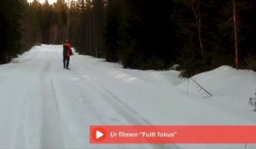
<path fill-rule="evenodd" d="M 21 34 L 20 34 L 20 16 L 21 7 L 19 0 L 1 0 L 0 1 L 0 63 L 7 63 L 20 53 Z"/>

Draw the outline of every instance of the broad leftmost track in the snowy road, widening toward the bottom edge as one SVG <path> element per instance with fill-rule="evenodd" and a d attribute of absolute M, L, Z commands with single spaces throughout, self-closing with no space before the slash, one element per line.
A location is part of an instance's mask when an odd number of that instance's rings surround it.
<path fill-rule="evenodd" d="M 49 60 L 47 60 L 40 77 L 42 88 L 41 148 L 63 148 L 59 107 L 49 67 Z"/>

